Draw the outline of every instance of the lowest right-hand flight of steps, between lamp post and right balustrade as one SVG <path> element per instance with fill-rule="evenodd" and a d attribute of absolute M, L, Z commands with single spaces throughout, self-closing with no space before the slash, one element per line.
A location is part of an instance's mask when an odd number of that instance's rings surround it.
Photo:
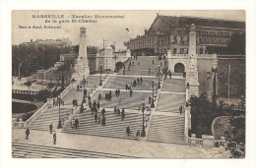
<path fill-rule="evenodd" d="M 153 115 L 148 141 L 184 143 L 184 116 Z"/>

